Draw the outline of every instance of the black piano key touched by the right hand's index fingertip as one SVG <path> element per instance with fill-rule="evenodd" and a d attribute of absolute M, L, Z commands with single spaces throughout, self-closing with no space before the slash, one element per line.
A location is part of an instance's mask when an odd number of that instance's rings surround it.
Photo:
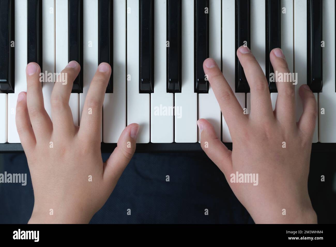
<path fill-rule="evenodd" d="M 195 0 L 195 93 L 208 93 L 209 81 L 205 77 L 203 62 L 209 57 L 209 0 Z"/>

